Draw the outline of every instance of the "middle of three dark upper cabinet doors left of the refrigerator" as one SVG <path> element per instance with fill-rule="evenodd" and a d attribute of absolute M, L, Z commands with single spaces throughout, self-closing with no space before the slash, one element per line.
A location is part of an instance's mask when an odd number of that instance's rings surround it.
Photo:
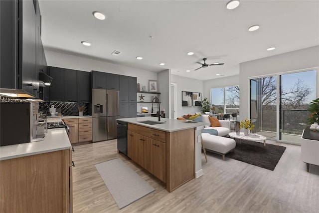
<path fill-rule="evenodd" d="M 64 101 L 77 101 L 76 74 L 76 70 L 64 69 Z"/>

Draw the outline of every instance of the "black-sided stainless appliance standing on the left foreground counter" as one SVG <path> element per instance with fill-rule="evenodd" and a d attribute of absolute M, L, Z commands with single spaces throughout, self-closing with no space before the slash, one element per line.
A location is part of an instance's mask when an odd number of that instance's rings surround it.
<path fill-rule="evenodd" d="M 38 121 L 38 102 L 0 103 L 0 117 L 0 146 L 40 141 L 45 137 L 43 121 Z"/>

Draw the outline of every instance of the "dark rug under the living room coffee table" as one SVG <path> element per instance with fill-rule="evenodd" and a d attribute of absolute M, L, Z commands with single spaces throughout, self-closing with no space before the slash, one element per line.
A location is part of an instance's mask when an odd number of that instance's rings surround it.
<path fill-rule="evenodd" d="M 286 147 L 236 139 L 234 152 L 226 157 L 274 171 Z"/>

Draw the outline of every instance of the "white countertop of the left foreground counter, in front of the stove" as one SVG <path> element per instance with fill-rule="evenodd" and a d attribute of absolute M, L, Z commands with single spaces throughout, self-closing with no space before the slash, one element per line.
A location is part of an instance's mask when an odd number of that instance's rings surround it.
<path fill-rule="evenodd" d="M 48 129 L 43 141 L 0 147 L 0 161 L 65 149 L 71 149 L 65 128 Z"/>

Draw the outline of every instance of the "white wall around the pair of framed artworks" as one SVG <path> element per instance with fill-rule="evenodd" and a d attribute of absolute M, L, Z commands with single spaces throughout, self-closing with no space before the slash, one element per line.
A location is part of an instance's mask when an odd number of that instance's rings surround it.
<path fill-rule="evenodd" d="M 179 75 L 171 75 L 171 82 L 177 84 L 177 117 L 187 114 L 195 114 L 195 112 L 201 112 L 199 106 L 181 106 L 181 91 L 188 92 L 204 92 L 204 83 L 202 80 L 196 80 L 192 78 L 186 78 Z M 202 96 L 202 100 L 204 99 Z"/>

